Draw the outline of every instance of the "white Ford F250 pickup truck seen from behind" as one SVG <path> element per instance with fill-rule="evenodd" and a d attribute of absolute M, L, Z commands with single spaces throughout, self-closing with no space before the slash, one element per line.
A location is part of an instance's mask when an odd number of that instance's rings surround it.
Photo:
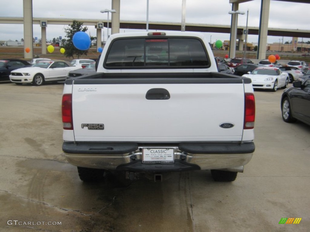
<path fill-rule="evenodd" d="M 250 161 L 251 80 L 219 73 L 202 33 L 113 34 L 96 69 L 63 91 L 62 149 L 81 180 L 211 170 L 234 181 Z"/>

